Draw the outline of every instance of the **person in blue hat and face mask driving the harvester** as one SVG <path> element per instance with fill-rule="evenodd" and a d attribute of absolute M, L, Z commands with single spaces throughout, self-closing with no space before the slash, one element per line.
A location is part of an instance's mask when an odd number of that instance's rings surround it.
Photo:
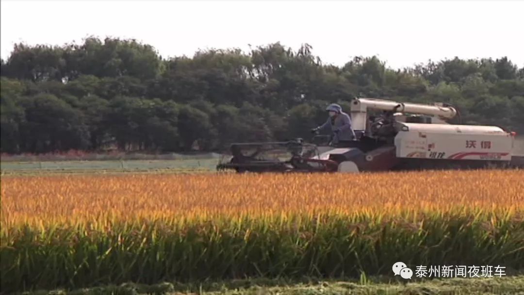
<path fill-rule="evenodd" d="M 348 141 L 356 138 L 355 132 L 351 126 L 351 117 L 342 112 L 342 107 L 336 103 L 330 104 L 326 107 L 329 112 L 328 121 L 321 126 L 311 129 L 312 133 L 317 133 L 319 130 L 331 128 L 333 133 L 333 143 L 337 145 L 344 145 Z"/>

